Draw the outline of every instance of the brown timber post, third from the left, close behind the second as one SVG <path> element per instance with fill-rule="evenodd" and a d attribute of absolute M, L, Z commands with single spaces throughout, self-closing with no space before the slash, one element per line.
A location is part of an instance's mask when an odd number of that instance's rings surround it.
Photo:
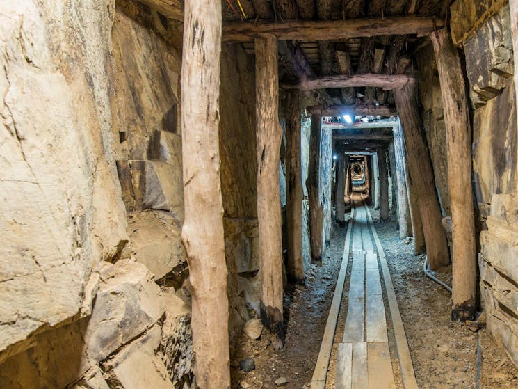
<path fill-rule="evenodd" d="M 286 222 L 288 257 L 286 271 L 293 283 L 304 283 L 302 260 L 302 182 L 300 161 L 300 92 L 286 93 Z"/>

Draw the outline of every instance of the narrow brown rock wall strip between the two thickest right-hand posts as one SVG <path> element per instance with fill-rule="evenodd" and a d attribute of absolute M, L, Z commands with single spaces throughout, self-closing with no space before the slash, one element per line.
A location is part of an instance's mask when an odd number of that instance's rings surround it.
<path fill-rule="evenodd" d="M 448 192 L 448 161 L 446 159 L 446 125 L 442 108 L 441 85 L 430 44 L 416 53 L 419 68 L 419 100 L 423 105 L 423 126 L 432 159 L 435 188 L 439 193 L 442 216 L 451 216 Z"/>

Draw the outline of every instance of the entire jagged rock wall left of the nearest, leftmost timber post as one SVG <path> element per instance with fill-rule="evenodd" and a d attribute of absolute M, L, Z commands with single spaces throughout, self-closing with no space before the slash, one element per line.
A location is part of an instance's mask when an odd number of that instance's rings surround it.
<path fill-rule="evenodd" d="M 193 378 L 187 293 L 156 283 L 185 259 L 180 56 L 124 5 L 0 4 L 1 388 Z"/>

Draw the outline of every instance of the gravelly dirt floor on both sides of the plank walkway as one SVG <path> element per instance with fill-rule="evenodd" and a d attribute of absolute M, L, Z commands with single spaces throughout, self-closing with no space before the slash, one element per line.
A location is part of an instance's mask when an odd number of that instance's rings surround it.
<path fill-rule="evenodd" d="M 372 213 L 377 221 L 378 213 Z M 289 322 L 284 348 L 274 350 L 265 335 L 259 340 L 250 340 L 243 333 L 232 358 L 233 388 L 276 388 L 275 380 L 280 377 L 288 381 L 283 388 L 309 388 L 339 272 L 346 230 L 346 227 L 334 225 L 331 246 L 321 266 L 312 266 L 307 271 L 305 287 L 297 287 L 286 294 Z M 485 330 L 471 332 L 464 324 L 449 319 L 451 296 L 423 276 L 424 258 L 412 255 L 410 239 L 398 238 L 395 223 L 376 223 L 376 230 L 389 262 L 419 388 L 476 389 L 478 336 L 482 346 L 480 388 L 518 388 L 518 369 L 489 334 Z M 445 269 L 445 273 L 437 276 L 450 283 L 451 276 L 447 272 Z M 347 291 L 347 285 L 344 290 Z M 346 307 L 347 294 L 344 292 L 337 336 L 343 333 Z M 335 356 L 333 351 L 330 372 L 334 371 Z M 239 362 L 245 358 L 254 359 L 255 370 L 246 373 L 239 368 Z M 328 378 L 327 388 L 333 387 L 333 375 Z M 400 382 L 396 385 L 401 388 Z"/>

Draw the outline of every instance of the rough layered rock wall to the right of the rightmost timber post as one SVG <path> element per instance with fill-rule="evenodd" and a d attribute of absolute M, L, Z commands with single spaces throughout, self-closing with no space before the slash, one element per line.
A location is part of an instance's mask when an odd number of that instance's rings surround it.
<path fill-rule="evenodd" d="M 476 20 L 473 1 L 452 24 Z M 517 113 L 509 8 L 464 41 L 474 112 L 474 178 L 480 232 L 480 292 L 487 326 L 518 364 Z"/>

